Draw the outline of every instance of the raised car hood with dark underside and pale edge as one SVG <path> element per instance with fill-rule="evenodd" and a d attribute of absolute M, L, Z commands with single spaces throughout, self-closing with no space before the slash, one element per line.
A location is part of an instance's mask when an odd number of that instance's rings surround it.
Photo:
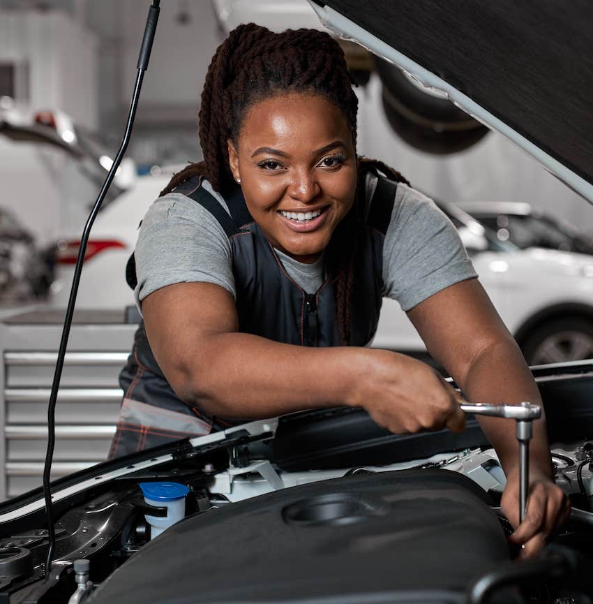
<path fill-rule="evenodd" d="M 310 3 L 326 27 L 445 92 L 593 203 L 593 3 Z"/>

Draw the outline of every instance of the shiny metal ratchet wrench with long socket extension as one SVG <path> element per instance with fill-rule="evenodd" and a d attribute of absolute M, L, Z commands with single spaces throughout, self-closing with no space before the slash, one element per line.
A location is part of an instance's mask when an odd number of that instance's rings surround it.
<path fill-rule="evenodd" d="M 529 441 L 533 436 L 533 420 L 541 417 L 541 406 L 528 402 L 516 405 L 461 404 L 461 411 L 474 415 L 492 415 L 496 418 L 516 420 L 519 441 L 519 518 L 523 522 L 529 492 Z"/>

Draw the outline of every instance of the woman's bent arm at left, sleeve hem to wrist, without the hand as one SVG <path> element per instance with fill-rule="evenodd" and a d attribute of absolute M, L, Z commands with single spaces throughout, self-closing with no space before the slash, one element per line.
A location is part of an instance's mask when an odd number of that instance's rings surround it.
<path fill-rule="evenodd" d="M 239 333 L 232 295 L 211 283 L 157 290 L 142 311 L 151 348 L 174 391 L 216 415 L 262 418 L 341 404 L 355 386 L 350 351 Z"/>

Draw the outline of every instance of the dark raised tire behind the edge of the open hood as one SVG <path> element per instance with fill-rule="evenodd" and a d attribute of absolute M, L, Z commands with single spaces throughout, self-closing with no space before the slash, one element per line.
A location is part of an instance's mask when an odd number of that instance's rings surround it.
<path fill-rule="evenodd" d="M 489 132 L 448 98 L 413 84 L 400 68 L 382 59 L 375 63 L 389 125 L 408 145 L 433 154 L 455 153 L 475 145 Z"/>

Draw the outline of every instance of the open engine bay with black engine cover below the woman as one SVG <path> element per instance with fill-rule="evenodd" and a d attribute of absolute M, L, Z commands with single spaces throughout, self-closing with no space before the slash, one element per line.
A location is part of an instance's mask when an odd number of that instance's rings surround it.
<path fill-rule="evenodd" d="M 363 411 L 332 408 L 55 481 L 46 577 L 43 492 L 1 503 L 0 601 L 487 602 L 490 593 L 471 590 L 488 584 L 502 598 L 492 601 L 590 602 L 592 374 L 581 366 L 536 378 L 554 478 L 573 507 L 541 559 L 513 559 L 504 472 L 474 419 L 461 434 L 396 435 Z M 155 537 L 151 522 L 167 512 L 140 485 L 159 483 L 187 494 L 183 520 Z"/>

